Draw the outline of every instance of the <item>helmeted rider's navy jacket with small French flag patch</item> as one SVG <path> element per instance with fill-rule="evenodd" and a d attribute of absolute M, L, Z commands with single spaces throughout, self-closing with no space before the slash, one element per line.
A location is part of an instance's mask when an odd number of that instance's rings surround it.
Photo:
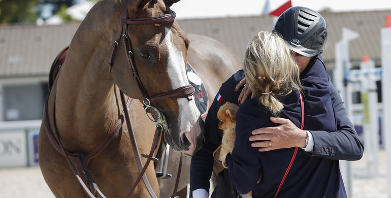
<path fill-rule="evenodd" d="M 314 63 L 324 67 L 321 57 L 319 56 L 316 62 Z M 310 67 L 307 67 L 308 71 Z M 305 73 L 303 71 L 303 73 Z M 303 74 L 302 73 L 302 74 Z M 301 78 L 304 78 L 304 75 L 301 75 Z M 238 96 L 241 89 L 237 92 L 234 91 L 235 86 L 239 83 L 240 80 L 244 78 L 243 71 L 240 70 L 235 73 L 231 78 L 225 81 L 220 89 L 218 95 L 221 96 L 221 101 L 217 101 L 215 97 L 214 102 L 209 109 L 208 116 L 205 120 L 205 142 L 204 146 L 192 156 L 191 159 L 191 168 L 190 168 L 190 191 L 195 189 L 204 188 L 207 191 L 209 190 L 209 179 L 213 171 L 213 156 L 212 152 L 221 144 L 222 131 L 218 128 L 218 119 L 217 111 L 220 106 L 226 102 L 231 102 L 238 105 Z M 304 83 L 303 83 L 304 84 Z M 329 85 L 331 88 L 331 98 L 333 102 L 333 107 L 336 116 L 337 122 L 337 131 L 330 133 L 326 130 L 310 130 L 314 138 L 314 151 L 311 156 L 320 156 L 329 159 L 343 159 L 343 160 L 358 160 L 362 157 L 364 147 L 361 143 L 361 140 L 357 136 L 353 124 L 347 117 L 346 110 L 343 106 L 343 102 L 337 90 L 334 88 L 333 84 L 330 82 Z M 316 133 L 314 133 L 316 132 Z M 339 140 L 335 141 L 335 137 Z M 326 153 L 322 150 L 324 148 L 334 146 L 338 148 L 338 152 L 331 154 L 330 152 Z M 309 154 L 309 153 L 307 153 Z M 220 174 L 224 174 L 225 177 L 230 177 L 229 174 L 226 174 L 226 170 Z M 226 179 L 225 179 L 226 180 Z M 228 181 L 230 179 L 227 179 Z M 219 183 L 217 184 L 219 185 Z M 219 188 L 216 186 L 216 189 Z M 232 192 L 235 196 L 236 189 L 233 187 L 231 190 L 230 187 L 224 186 L 223 191 Z M 191 194 L 191 193 L 190 193 Z M 218 196 L 217 197 L 223 197 Z M 228 197 L 228 196 L 225 196 Z"/>

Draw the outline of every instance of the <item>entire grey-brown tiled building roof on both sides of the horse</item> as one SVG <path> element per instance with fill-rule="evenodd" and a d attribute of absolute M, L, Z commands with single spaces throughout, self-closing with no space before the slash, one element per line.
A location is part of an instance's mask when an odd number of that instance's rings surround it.
<path fill-rule="evenodd" d="M 334 67 L 335 44 L 342 38 L 342 27 L 360 34 L 359 39 L 349 43 L 352 64 L 359 65 L 362 56 L 368 55 L 380 65 L 380 29 L 391 10 L 320 14 L 327 21 L 329 32 L 322 54 L 329 69 Z M 178 20 L 187 34 L 214 38 L 229 47 L 240 60 L 250 38 L 260 30 L 270 31 L 273 23 L 271 16 Z M 47 76 L 55 56 L 69 45 L 79 25 L 0 26 L 0 77 Z"/>

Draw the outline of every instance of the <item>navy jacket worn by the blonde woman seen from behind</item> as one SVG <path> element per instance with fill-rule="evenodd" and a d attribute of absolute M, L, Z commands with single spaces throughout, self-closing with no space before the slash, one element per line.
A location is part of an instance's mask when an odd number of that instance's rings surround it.
<path fill-rule="evenodd" d="M 322 65 L 303 71 L 304 129 L 335 131 L 337 129 L 330 97 L 328 76 Z M 301 104 L 299 92 L 280 97 L 284 104 L 279 117 L 287 118 L 300 127 Z M 251 131 L 278 124 L 257 98 L 246 101 L 236 114 L 236 141 L 232 155 L 226 161 L 239 192 L 252 190 L 253 197 L 274 197 L 295 148 L 259 152 L 251 147 Z M 316 132 L 314 132 L 316 133 Z M 324 147 L 323 147 L 324 148 Z M 337 148 L 327 147 L 333 155 Z M 262 176 L 259 184 L 256 184 Z M 346 197 L 338 160 L 310 157 L 299 149 L 295 161 L 282 185 L 278 197 Z"/>

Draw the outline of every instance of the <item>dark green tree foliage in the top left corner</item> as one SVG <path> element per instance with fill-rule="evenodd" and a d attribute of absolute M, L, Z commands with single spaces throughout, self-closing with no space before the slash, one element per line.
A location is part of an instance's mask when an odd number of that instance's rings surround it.
<path fill-rule="evenodd" d="M 40 0 L 0 0 L 0 23 L 34 23 Z"/>

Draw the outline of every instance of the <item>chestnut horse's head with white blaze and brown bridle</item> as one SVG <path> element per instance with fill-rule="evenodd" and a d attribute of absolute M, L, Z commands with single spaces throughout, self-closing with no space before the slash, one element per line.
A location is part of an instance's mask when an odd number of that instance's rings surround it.
<path fill-rule="evenodd" d="M 121 34 L 121 40 L 125 42 L 118 45 L 111 73 L 126 95 L 152 106 L 148 111 L 153 119 L 164 119 L 158 122 L 172 148 L 192 155 L 201 147 L 203 127 L 194 100 L 189 100 L 192 87 L 187 87 L 185 68 L 189 41 L 174 20 L 175 13 L 170 10 L 178 1 L 125 2 L 128 6 L 127 14 L 123 13 L 126 8 L 122 12 L 122 24 L 125 25 Z"/>

